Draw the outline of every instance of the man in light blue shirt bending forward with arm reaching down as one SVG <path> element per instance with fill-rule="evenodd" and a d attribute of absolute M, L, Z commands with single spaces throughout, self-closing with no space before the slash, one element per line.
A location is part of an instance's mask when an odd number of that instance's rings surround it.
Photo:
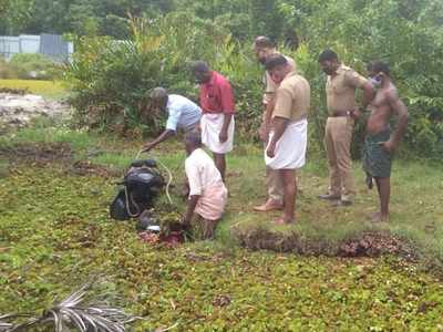
<path fill-rule="evenodd" d="M 144 152 L 148 152 L 163 141 L 174 136 L 177 128 L 184 132 L 193 131 L 200 121 L 200 107 L 182 95 L 168 95 L 165 89 L 155 87 L 151 93 L 151 100 L 153 107 L 166 111 L 168 117 L 165 131 L 153 142 L 146 143 L 143 146 Z"/>

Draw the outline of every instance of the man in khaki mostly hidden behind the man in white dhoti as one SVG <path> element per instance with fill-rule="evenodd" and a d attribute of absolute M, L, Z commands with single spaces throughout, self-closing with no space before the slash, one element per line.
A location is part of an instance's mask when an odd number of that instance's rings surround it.
<path fill-rule="evenodd" d="M 274 41 L 264 35 L 257 37 L 254 41 L 254 52 L 256 53 L 258 62 L 264 65 L 270 56 L 272 56 L 274 54 L 278 54 Z M 295 61 L 289 56 L 284 56 L 288 61 L 292 71 L 296 71 Z M 264 75 L 264 84 L 266 86 L 262 97 L 264 115 L 259 134 L 261 141 L 266 145 L 269 138 L 269 131 L 275 105 L 275 94 L 279 86 L 279 83 L 275 82 L 271 79 L 269 72 L 266 71 Z M 278 173 L 270 167 L 266 167 L 266 185 L 268 187 L 268 199 L 265 204 L 254 207 L 254 210 L 270 211 L 275 209 L 281 209 L 284 206 L 284 184 L 281 183 L 281 178 L 278 176 Z"/>

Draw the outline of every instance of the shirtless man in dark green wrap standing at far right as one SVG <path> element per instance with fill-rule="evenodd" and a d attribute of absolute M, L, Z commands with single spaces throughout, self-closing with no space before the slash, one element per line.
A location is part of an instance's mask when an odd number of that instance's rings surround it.
<path fill-rule="evenodd" d="M 399 98 L 387 63 L 374 61 L 368 65 L 368 71 L 377 93 L 369 105 L 371 115 L 367 123 L 363 169 L 369 188 L 372 188 L 373 177 L 379 190 L 380 211 L 372 216 L 372 221 L 389 221 L 392 154 L 406 132 L 408 110 Z M 399 120 L 391 133 L 389 122 L 393 115 L 398 115 Z"/>

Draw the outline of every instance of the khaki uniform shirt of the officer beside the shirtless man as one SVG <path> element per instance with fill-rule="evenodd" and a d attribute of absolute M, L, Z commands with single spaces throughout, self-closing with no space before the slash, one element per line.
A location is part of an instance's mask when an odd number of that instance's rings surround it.
<path fill-rule="evenodd" d="M 326 94 L 328 112 L 347 112 L 356 108 L 356 89 L 362 87 L 368 80 L 353 69 L 340 65 L 336 76 L 328 75 Z"/>

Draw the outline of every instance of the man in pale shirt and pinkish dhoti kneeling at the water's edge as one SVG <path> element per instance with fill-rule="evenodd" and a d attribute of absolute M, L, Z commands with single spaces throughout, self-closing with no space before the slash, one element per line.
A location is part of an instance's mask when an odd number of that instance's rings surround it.
<path fill-rule="evenodd" d="M 188 157 L 185 162 L 189 188 L 186 215 L 183 224 L 200 224 L 203 237 L 210 239 L 218 220 L 225 210 L 228 190 L 214 160 L 202 148 L 199 132 L 185 135 L 185 148 Z"/>

